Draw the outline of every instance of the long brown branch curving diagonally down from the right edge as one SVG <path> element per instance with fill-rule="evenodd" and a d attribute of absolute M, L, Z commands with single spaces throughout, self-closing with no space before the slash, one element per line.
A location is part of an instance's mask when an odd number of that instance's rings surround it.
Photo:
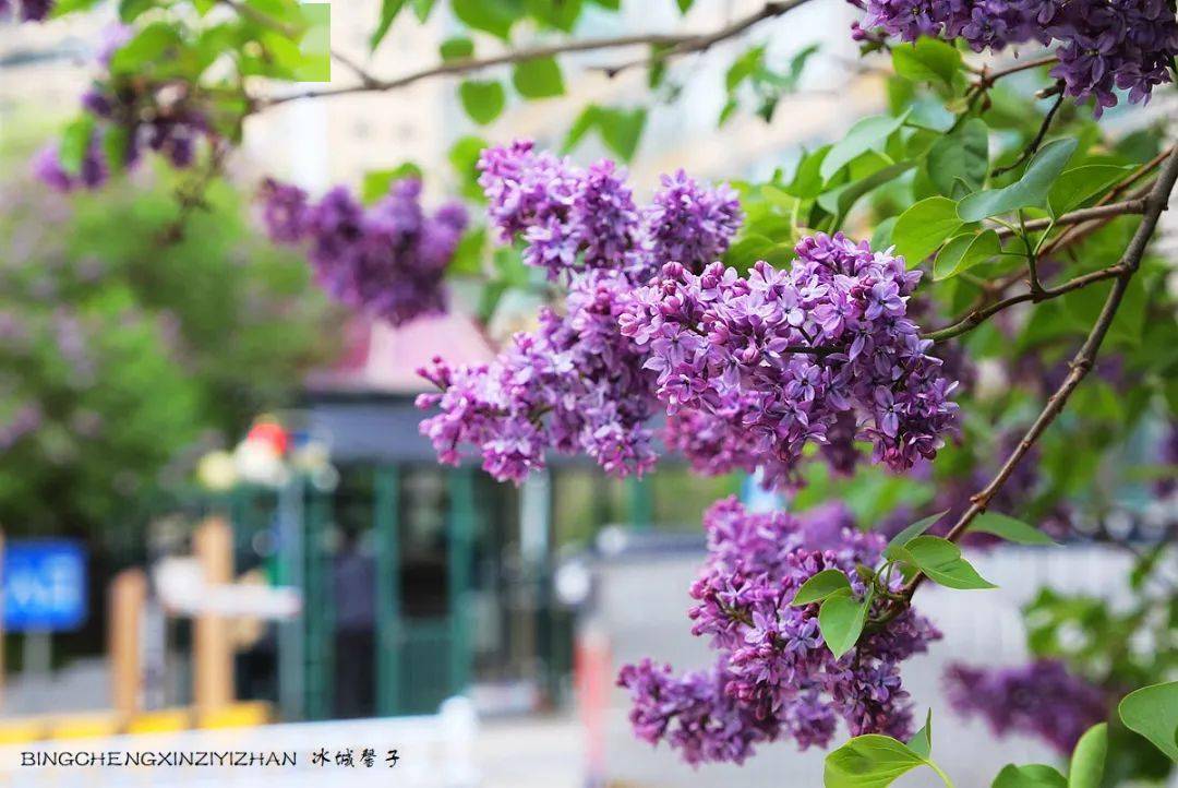
<path fill-rule="evenodd" d="M 1146 207 L 1144 216 L 1141 217 L 1141 224 L 1138 225 L 1137 232 L 1133 233 L 1133 238 L 1129 241 L 1129 246 L 1125 249 L 1124 254 L 1121 254 L 1120 261 L 1107 270 L 1117 270 L 1116 282 L 1113 287 L 1105 299 L 1104 307 L 1100 310 L 1100 316 L 1093 324 L 1092 330 L 1088 332 L 1087 338 L 1084 344 L 1076 352 L 1076 356 L 1071 360 L 1071 371 L 1064 382 L 1060 384 L 1059 389 L 1055 390 L 1053 395 L 1047 399 L 1046 406 L 1039 417 L 1027 430 L 1026 435 L 1015 446 L 1011 456 L 1006 458 L 1002 466 L 999 469 L 994 478 L 991 479 L 990 484 L 982 488 L 978 494 L 972 496 L 969 508 L 958 518 L 953 528 L 946 535 L 949 542 L 959 541 L 968 530 L 969 524 L 978 517 L 978 515 L 986 511 L 986 506 L 990 505 L 991 499 L 998 494 L 1006 483 L 1006 479 L 1011 477 L 1014 469 L 1018 466 L 1019 462 L 1026 456 L 1026 453 L 1034 445 L 1035 441 L 1046 431 L 1055 417 L 1059 416 L 1060 411 L 1067 404 L 1068 397 L 1080 384 L 1080 380 L 1092 370 L 1096 363 L 1097 352 L 1100 350 L 1100 345 L 1108 333 L 1108 327 L 1112 325 L 1113 318 L 1117 317 L 1117 310 L 1120 307 L 1121 299 L 1125 297 L 1125 291 L 1129 289 L 1129 283 L 1133 278 L 1138 267 L 1141 265 L 1141 258 L 1145 256 L 1145 249 L 1153 237 L 1153 232 L 1158 226 L 1158 219 L 1162 217 L 1162 212 L 1166 210 L 1167 203 L 1170 200 L 1170 193 L 1173 191 L 1174 181 L 1178 180 L 1178 150 L 1170 153 L 1170 158 L 1166 160 L 1162 173 L 1158 176 L 1158 180 L 1153 184 L 1153 188 L 1150 190 L 1149 196 L 1145 198 Z M 912 595 L 915 594 L 916 589 L 924 582 L 925 575 L 918 572 L 915 577 L 908 581 L 905 588 L 905 600 L 906 603 L 912 601 Z"/>

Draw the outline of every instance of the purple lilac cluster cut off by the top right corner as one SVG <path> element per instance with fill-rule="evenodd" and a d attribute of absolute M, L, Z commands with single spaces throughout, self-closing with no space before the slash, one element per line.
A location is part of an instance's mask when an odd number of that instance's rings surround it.
<path fill-rule="evenodd" d="M 920 35 L 961 38 L 975 51 L 1058 41 L 1052 75 L 1067 94 L 1096 98 L 1096 114 L 1117 104 L 1147 101 L 1170 81 L 1178 54 L 1178 22 L 1166 0 L 852 0 L 867 11 L 866 27 L 914 41 Z"/>

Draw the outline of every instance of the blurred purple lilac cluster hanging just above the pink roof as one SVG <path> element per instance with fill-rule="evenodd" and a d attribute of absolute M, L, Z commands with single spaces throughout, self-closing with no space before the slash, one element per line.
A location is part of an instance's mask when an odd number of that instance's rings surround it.
<path fill-rule="evenodd" d="M 342 186 L 311 204 L 302 188 L 267 180 L 262 216 L 276 241 L 310 240 L 316 278 L 332 297 L 402 325 L 445 310 L 443 276 L 466 226 L 457 203 L 426 214 L 421 192 L 419 180 L 397 180 L 365 208 Z"/>

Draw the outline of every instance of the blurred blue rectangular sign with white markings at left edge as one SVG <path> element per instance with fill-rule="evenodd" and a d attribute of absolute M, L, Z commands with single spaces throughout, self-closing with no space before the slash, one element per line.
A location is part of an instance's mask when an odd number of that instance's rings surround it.
<path fill-rule="evenodd" d="M 0 580 L 7 631 L 66 631 L 86 621 L 86 551 L 78 542 L 8 541 Z"/>

